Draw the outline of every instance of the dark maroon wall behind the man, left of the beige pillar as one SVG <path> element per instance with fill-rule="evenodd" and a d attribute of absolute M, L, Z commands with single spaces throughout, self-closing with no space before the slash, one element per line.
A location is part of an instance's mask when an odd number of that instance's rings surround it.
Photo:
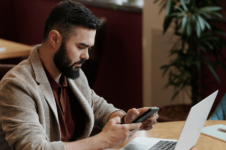
<path fill-rule="evenodd" d="M 0 38 L 29 45 L 41 43 L 45 20 L 57 3 L 54 0 L 1 0 Z M 142 15 L 89 8 L 96 16 L 107 19 L 104 52 L 94 90 L 121 109 L 141 107 Z"/>

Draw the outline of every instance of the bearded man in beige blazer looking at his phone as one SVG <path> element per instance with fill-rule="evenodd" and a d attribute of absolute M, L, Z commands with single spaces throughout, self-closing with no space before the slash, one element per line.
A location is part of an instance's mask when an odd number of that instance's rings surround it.
<path fill-rule="evenodd" d="M 100 150 L 156 123 L 157 114 L 129 124 L 149 108 L 126 114 L 88 86 L 80 68 L 99 25 L 77 2 L 63 1 L 53 8 L 42 44 L 0 82 L 0 150 Z M 89 137 L 94 126 L 102 131 Z"/>

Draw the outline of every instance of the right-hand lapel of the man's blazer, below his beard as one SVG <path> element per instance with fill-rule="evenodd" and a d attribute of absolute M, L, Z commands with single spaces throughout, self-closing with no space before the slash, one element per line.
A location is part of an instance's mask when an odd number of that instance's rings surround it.
<path fill-rule="evenodd" d="M 68 84 L 72 92 L 74 93 L 74 95 L 77 97 L 78 102 L 81 104 L 83 110 L 85 111 L 89 119 L 85 128 L 84 137 L 81 137 L 81 138 L 85 138 L 89 136 L 94 126 L 94 117 L 93 117 L 92 108 L 90 107 L 90 104 L 87 102 L 86 98 L 83 96 L 83 94 L 81 93 L 81 91 L 79 90 L 79 88 L 77 87 L 77 85 L 72 79 L 68 79 Z"/>

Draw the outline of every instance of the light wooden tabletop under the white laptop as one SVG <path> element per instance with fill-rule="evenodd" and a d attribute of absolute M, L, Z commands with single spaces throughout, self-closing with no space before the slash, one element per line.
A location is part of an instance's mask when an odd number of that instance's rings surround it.
<path fill-rule="evenodd" d="M 138 131 L 131 139 L 128 139 L 125 143 L 116 148 L 117 149 L 122 148 L 124 145 L 133 140 L 135 137 L 150 137 L 150 138 L 164 138 L 177 140 L 180 136 L 184 123 L 185 121 L 157 123 L 156 125 L 154 125 L 154 128 L 151 129 L 150 131 Z M 226 125 L 226 121 L 206 121 L 205 126 L 215 124 Z M 200 137 L 195 147 L 198 150 L 225 150 L 226 142 L 200 134 Z"/>

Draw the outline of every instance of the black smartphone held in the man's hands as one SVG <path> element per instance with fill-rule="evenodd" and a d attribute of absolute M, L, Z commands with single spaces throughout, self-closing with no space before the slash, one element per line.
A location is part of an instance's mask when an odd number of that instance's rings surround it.
<path fill-rule="evenodd" d="M 151 117 L 152 115 L 154 115 L 157 111 L 159 111 L 158 107 L 154 107 L 154 108 L 150 108 L 148 109 L 146 112 L 144 112 L 142 115 L 140 115 L 139 117 L 137 117 L 134 121 L 132 121 L 131 123 L 138 123 L 138 122 L 144 122 L 145 120 L 147 120 L 149 117 Z"/>

